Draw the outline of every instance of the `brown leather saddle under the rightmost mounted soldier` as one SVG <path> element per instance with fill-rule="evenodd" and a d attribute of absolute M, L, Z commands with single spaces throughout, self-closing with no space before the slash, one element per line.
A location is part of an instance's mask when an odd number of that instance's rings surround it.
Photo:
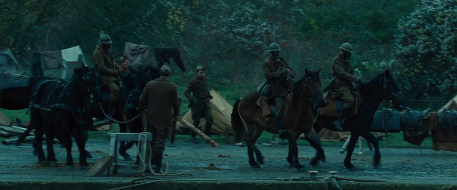
<path fill-rule="evenodd" d="M 336 108 L 337 105 L 342 105 L 343 101 L 339 100 L 338 98 L 331 98 L 328 96 L 329 92 L 324 92 L 324 99 L 326 99 L 329 102 L 329 105 L 325 107 L 319 108 L 319 115 L 322 116 L 328 116 L 328 117 L 339 117 L 339 111 Z M 359 99 L 354 98 L 354 106 L 350 110 L 348 110 L 348 113 L 346 114 L 346 118 L 351 118 L 357 115 L 357 109 L 359 105 Z"/>

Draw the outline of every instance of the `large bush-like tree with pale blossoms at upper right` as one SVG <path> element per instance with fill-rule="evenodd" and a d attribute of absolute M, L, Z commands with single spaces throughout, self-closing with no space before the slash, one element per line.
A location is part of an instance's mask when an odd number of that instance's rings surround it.
<path fill-rule="evenodd" d="M 411 97 L 455 95 L 456 29 L 456 0 L 422 0 L 398 22 L 392 63 Z"/>

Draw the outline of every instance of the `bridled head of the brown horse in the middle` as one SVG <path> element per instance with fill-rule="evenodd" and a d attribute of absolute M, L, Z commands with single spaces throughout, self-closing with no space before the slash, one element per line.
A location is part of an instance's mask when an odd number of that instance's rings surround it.
<path fill-rule="evenodd" d="M 310 72 L 308 68 L 305 68 L 305 75 L 299 81 L 300 84 L 296 84 L 296 86 L 300 86 L 299 88 L 301 91 L 304 91 L 304 93 L 311 96 L 311 102 L 314 109 L 328 105 L 328 102 L 324 100 L 322 95 L 322 82 L 320 81 L 319 74 L 320 69 L 316 72 Z"/>

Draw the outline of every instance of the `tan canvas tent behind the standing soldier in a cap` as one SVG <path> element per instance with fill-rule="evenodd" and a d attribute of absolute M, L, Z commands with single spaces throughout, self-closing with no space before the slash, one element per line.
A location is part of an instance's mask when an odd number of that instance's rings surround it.
<path fill-rule="evenodd" d="M 210 101 L 211 109 L 212 109 L 212 117 L 214 118 L 214 122 L 211 127 L 211 132 L 223 134 L 225 135 L 226 127 L 230 127 L 230 115 L 232 113 L 232 106 L 222 98 L 219 93 L 215 90 L 210 90 L 211 96 L 213 97 Z M 191 111 L 187 112 L 182 119 L 193 123 L 192 121 L 192 113 Z M 205 119 L 202 118 L 200 121 L 200 125 L 198 126 L 199 129 L 203 129 L 205 126 Z M 176 124 L 176 128 L 179 129 L 181 127 L 185 127 L 182 123 L 178 122 Z"/>

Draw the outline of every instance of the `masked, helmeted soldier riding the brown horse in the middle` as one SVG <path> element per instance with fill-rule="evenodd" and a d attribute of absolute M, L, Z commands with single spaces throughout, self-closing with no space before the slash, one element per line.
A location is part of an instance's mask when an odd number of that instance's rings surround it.
<path fill-rule="evenodd" d="M 284 138 L 288 132 L 287 130 L 282 129 L 284 102 L 287 101 L 285 97 L 290 93 L 291 79 L 295 77 L 295 70 L 280 56 L 281 48 L 279 44 L 275 42 L 271 43 L 268 51 L 270 52 L 270 55 L 263 64 L 263 72 L 270 91 L 268 94 L 265 94 L 265 97 L 267 101 L 274 100 L 274 103 L 276 104 L 276 111 L 274 111 L 274 114 L 276 117 L 278 136 Z"/>

